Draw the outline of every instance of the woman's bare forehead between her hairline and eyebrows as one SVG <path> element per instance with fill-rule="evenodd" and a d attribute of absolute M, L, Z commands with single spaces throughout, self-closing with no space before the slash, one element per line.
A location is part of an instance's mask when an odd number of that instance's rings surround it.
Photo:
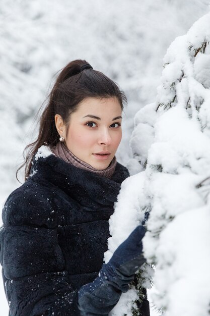
<path fill-rule="evenodd" d="M 122 109 L 116 97 L 96 98 L 88 97 L 84 99 L 78 106 L 75 113 L 78 115 L 96 115 L 96 116 L 110 116 L 117 114 L 121 115 Z M 116 116 L 117 116 L 116 115 Z"/>

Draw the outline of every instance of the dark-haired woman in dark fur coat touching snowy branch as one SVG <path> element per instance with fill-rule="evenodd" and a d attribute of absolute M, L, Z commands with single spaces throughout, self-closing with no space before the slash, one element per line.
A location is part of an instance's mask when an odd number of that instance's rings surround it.
<path fill-rule="evenodd" d="M 145 262 L 145 229 L 138 226 L 103 265 L 108 220 L 129 176 L 115 157 L 125 101 L 86 61 L 59 74 L 38 138 L 27 146 L 26 181 L 3 209 L 1 264 L 11 316 L 108 315 Z"/>

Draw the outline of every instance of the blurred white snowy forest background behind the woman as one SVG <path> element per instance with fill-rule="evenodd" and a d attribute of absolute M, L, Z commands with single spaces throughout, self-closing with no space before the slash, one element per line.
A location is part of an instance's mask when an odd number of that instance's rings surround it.
<path fill-rule="evenodd" d="M 134 115 L 156 99 L 167 48 L 207 12 L 209 0 L 2 0 L 1 206 L 20 185 L 15 173 L 23 149 L 36 135 L 32 123 L 59 69 L 85 59 L 125 91 L 117 158 L 126 165 Z M 0 295 L 6 316 L 3 289 Z"/>

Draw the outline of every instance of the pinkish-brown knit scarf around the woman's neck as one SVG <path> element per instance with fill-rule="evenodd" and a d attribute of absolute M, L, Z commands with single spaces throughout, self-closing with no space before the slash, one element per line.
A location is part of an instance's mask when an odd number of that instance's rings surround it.
<path fill-rule="evenodd" d="M 55 147 L 50 148 L 52 152 L 57 156 L 60 157 L 62 160 L 64 160 L 66 163 L 70 163 L 74 165 L 77 168 L 81 168 L 84 170 L 88 170 L 91 172 L 96 173 L 99 176 L 103 176 L 106 178 L 111 178 L 115 167 L 116 167 L 116 157 L 112 159 L 109 167 L 103 170 L 98 170 L 93 168 L 91 165 L 85 163 L 84 161 L 80 160 L 78 157 L 76 157 L 67 147 L 63 142 L 58 142 Z"/>

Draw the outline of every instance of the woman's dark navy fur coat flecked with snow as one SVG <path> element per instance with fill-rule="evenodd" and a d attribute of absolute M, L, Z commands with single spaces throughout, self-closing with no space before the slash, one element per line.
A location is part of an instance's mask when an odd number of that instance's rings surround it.
<path fill-rule="evenodd" d="M 10 314 L 78 316 L 78 290 L 102 267 L 108 220 L 129 174 L 117 163 L 107 179 L 38 155 L 3 209 L 0 258 Z"/>

